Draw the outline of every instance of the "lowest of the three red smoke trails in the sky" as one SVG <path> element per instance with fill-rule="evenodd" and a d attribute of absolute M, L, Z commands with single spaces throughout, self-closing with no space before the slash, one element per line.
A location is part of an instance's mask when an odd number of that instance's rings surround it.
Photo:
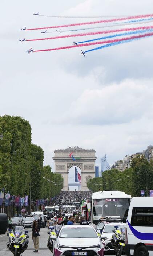
<path fill-rule="evenodd" d="M 79 45 L 64 46 L 64 47 L 58 47 L 58 48 L 52 48 L 52 49 L 35 50 L 33 52 L 55 51 L 55 50 L 71 49 L 71 48 L 75 48 L 75 47 L 83 47 L 83 46 L 90 46 L 90 45 L 96 45 L 96 44 L 116 43 L 116 42 L 121 42 L 121 41 L 132 40 L 132 39 L 144 38 L 146 36 L 152 36 L 152 35 L 153 35 L 153 32 L 152 33 L 146 33 L 144 35 L 125 37 L 125 38 L 121 38 L 121 39 L 114 39 L 114 40 L 107 40 L 107 41 L 93 42 L 93 43 L 82 43 L 82 44 L 79 44 Z"/>

